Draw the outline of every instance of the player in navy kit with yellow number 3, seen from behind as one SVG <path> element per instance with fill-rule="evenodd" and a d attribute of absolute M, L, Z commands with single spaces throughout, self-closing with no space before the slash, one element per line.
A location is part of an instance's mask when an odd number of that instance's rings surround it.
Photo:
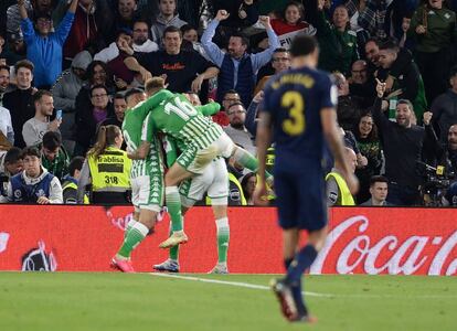
<path fill-rule="evenodd" d="M 297 36 L 291 45 L 291 70 L 268 82 L 257 127 L 259 181 L 254 193 L 256 204 L 267 203 L 265 195 L 266 150 L 276 142 L 274 189 L 279 226 L 284 237 L 286 277 L 274 279 L 272 288 L 289 321 L 313 322 L 301 296 L 301 275 L 316 259 L 327 236 L 325 170 L 326 140 L 343 164 L 351 193 L 358 180 L 343 153 L 334 107 L 337 88 L 329 75 L 316 70 L 319 50 L 316 39 Z M 308 243 L 298 247 L 300 231 L 308 231 Z"/>

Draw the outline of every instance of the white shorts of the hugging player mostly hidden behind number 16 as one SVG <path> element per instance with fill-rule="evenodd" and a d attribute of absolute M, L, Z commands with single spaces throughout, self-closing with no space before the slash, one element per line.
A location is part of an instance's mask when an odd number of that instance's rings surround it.
<path fill-rule="evenodd" d="M 202 200 L 206 192 L 212 205 L 228 204 L 228 172 L 222 158 L 214 159 L 202 174 L 183 181 L 179 188 L 181 203 L 185 207 Z"/>

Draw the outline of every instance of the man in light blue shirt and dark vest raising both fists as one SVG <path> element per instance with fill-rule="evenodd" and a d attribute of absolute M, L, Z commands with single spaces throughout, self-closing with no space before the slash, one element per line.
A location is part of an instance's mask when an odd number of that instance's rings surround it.
<path fill-rule="evenodd" d="M 235 89 L 244 105 L 249 105 L 254 93 L 255 79 L 258 70 L 272 60 L 273 52 L 279 47 L 277 35 L 272 29 L 268 17 L 259 17 L 259 21 L 265 26 L 269 47 L 261 53 L 248 54 L 248 41 L 241 34 L 232 34 L 228 41 L 227 53 L 212 42 L 215 29 L 219 23 L 228 18 L 225 10 L 217 11 L 214 20 L 208 25 L 202 35 L 202 45 L 210 58 L 220 67 L 217 84 L 217 100 L 228 89 Z"/>

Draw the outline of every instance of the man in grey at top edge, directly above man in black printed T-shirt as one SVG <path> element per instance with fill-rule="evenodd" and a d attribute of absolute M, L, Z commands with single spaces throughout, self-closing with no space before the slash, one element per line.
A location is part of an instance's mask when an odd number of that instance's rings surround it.
<path fill-rule="evenodd" d="M 158 45 L 162 43 L 162 36 L 168 26 L 181 28 L 188 22 L 181 20 L 177 13 L 177 0 L 159 0 L 159 14 L 151 25 L 152 41 Z"/>

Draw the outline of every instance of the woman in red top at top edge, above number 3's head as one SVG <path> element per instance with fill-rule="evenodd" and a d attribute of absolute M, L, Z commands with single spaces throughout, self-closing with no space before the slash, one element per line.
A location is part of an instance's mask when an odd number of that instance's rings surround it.
<path fill-rule="evenodd" d="M 297 34 L 316 34 L 316 28 L 306 22 L 304 18 L 304 6 L 298 1 L 290 1 L 284 9 L 283 18 L 272 20 L 272 28 L 278 35 L 281 47 L 288 50 Z"/>

